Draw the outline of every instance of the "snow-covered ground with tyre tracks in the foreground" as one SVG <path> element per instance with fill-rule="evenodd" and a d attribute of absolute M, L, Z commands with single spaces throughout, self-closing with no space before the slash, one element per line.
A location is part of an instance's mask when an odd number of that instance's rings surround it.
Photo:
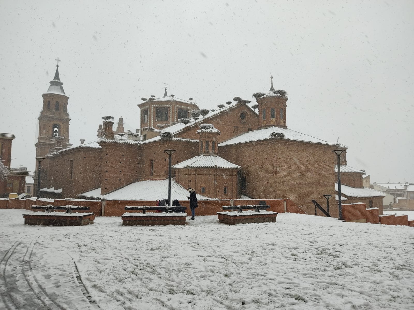
<path fill-rule="evenodd" d="M 24 213 L 0 210 L 0 309 L 414 309 L 413 227 L 289 213 L 39 227 Z"/>

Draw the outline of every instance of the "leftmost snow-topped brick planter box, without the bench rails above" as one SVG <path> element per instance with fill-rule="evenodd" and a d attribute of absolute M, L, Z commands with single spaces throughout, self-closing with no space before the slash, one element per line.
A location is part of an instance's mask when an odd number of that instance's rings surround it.
<path fill-rule="evenodd" d="M 36 212 L 24 214 L 24 224 L 44 226 L 83 226 L 94 222 L 93 213 Z"/>

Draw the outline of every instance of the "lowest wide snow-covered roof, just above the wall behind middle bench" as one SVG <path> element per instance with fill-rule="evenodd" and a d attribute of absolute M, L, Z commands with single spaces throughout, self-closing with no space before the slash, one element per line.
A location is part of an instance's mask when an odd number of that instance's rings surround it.
<path fill-rule="evenodd" d="M 101 188 L 78 195 L 79 197 L 101 198 L 105 200 L 157 200 L 168 198 L 168 179 L 137 181 L 112 193 L 101 195 Z M 180 184 L 171 179 L 171 201 L 187 200 L 189 193 Z M 197 193 L 197 199 L 212 199 Z"/>

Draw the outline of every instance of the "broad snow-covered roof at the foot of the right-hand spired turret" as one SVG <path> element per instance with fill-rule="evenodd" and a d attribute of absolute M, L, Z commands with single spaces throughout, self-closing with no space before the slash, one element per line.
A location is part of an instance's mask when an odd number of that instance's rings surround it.
<path fill-rule="evenodd" d="M 335 147 L 344 147 L 346 148 L 347 146 L 339 144 L 338 143 L 331 143 L 331 142 L 327 142 L 312 136 L 308 136 L 306 134 L 301 134 L 298 131 L 294 131 L 291 129 L 284 129 L 284 128 L 279 128 L 279 127 L 268 127 L 268 128 L 263 128 L 263 129 L 257 129 L 257 130 L 253 130 L 253 131 L 248 131 L 246 133 L 243 133 L 239 136 L 236 136 L 234 138 L 231 138 L 227 141 L 224 141 L 222 143 L 219 143 L 219 147 L 220 146 L 224 146 L 224 145 L 231 145 L 231 144 L 238 144 L 238 143 L 247 143 L 247 142 L 252 142 L 252 141 L 261 141 L 261 140 L 272 140 L 275 139 L 275 137 L 270 136 L 270 134 L 272 134 L 273 132 L 275 133 L 281 133 L 284 134 L 284 138 L 277 138 L 277 139 L 281 139 L 281 140 L 294 140 L 294 141 L 303 141 L 303 142 L 310 142 L 310 143 L 318 143 L 318 144 L 328 144 L 328 145 L 332 145 Z"/>

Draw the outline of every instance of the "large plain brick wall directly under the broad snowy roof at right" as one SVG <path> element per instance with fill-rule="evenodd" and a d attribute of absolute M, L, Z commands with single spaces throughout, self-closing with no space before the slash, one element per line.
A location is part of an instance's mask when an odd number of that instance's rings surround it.
<path fill-rule="evenodd" d="M 241 166 L 247 196 L 289 198 L 313 214 L 313 199 L 321 204 L 323 194 L 335 195 L 332 149 L 332 145 L 275 139 L 226 145 L 218 151 L 219 156 Z M 332 216 L 338 216 L 337 209 L 335 204 L 330 206 Z"/>

